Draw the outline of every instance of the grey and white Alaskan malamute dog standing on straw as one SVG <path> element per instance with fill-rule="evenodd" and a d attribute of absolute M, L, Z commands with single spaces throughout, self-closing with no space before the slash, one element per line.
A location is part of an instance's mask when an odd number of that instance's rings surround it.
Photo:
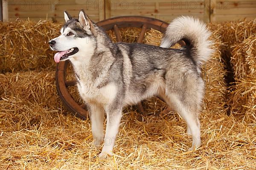
<path fill-rule="evenodd" d="M 193 150 L 201 144 L 198 114 L 204 97 L 201 65 L 212 53 L 210 32 L 192 17 L 178 17 L 166 29 L 160 47 L 140 43 L 112 43 L 104 30 L 83 10 L 79 19 L 64 11 L 61 35 L 49 41 L 58 51 L 55 62 L 73 64 L 77 87 L 90 113 L 94 144 L 104 146 L 100 158 L 112 155 L 122 108 L 160 96 L 187 123 Z M 170 49 L 176 42 L 181 49 Z M 104 136 L 104 113 L 107 127 Z"/>

